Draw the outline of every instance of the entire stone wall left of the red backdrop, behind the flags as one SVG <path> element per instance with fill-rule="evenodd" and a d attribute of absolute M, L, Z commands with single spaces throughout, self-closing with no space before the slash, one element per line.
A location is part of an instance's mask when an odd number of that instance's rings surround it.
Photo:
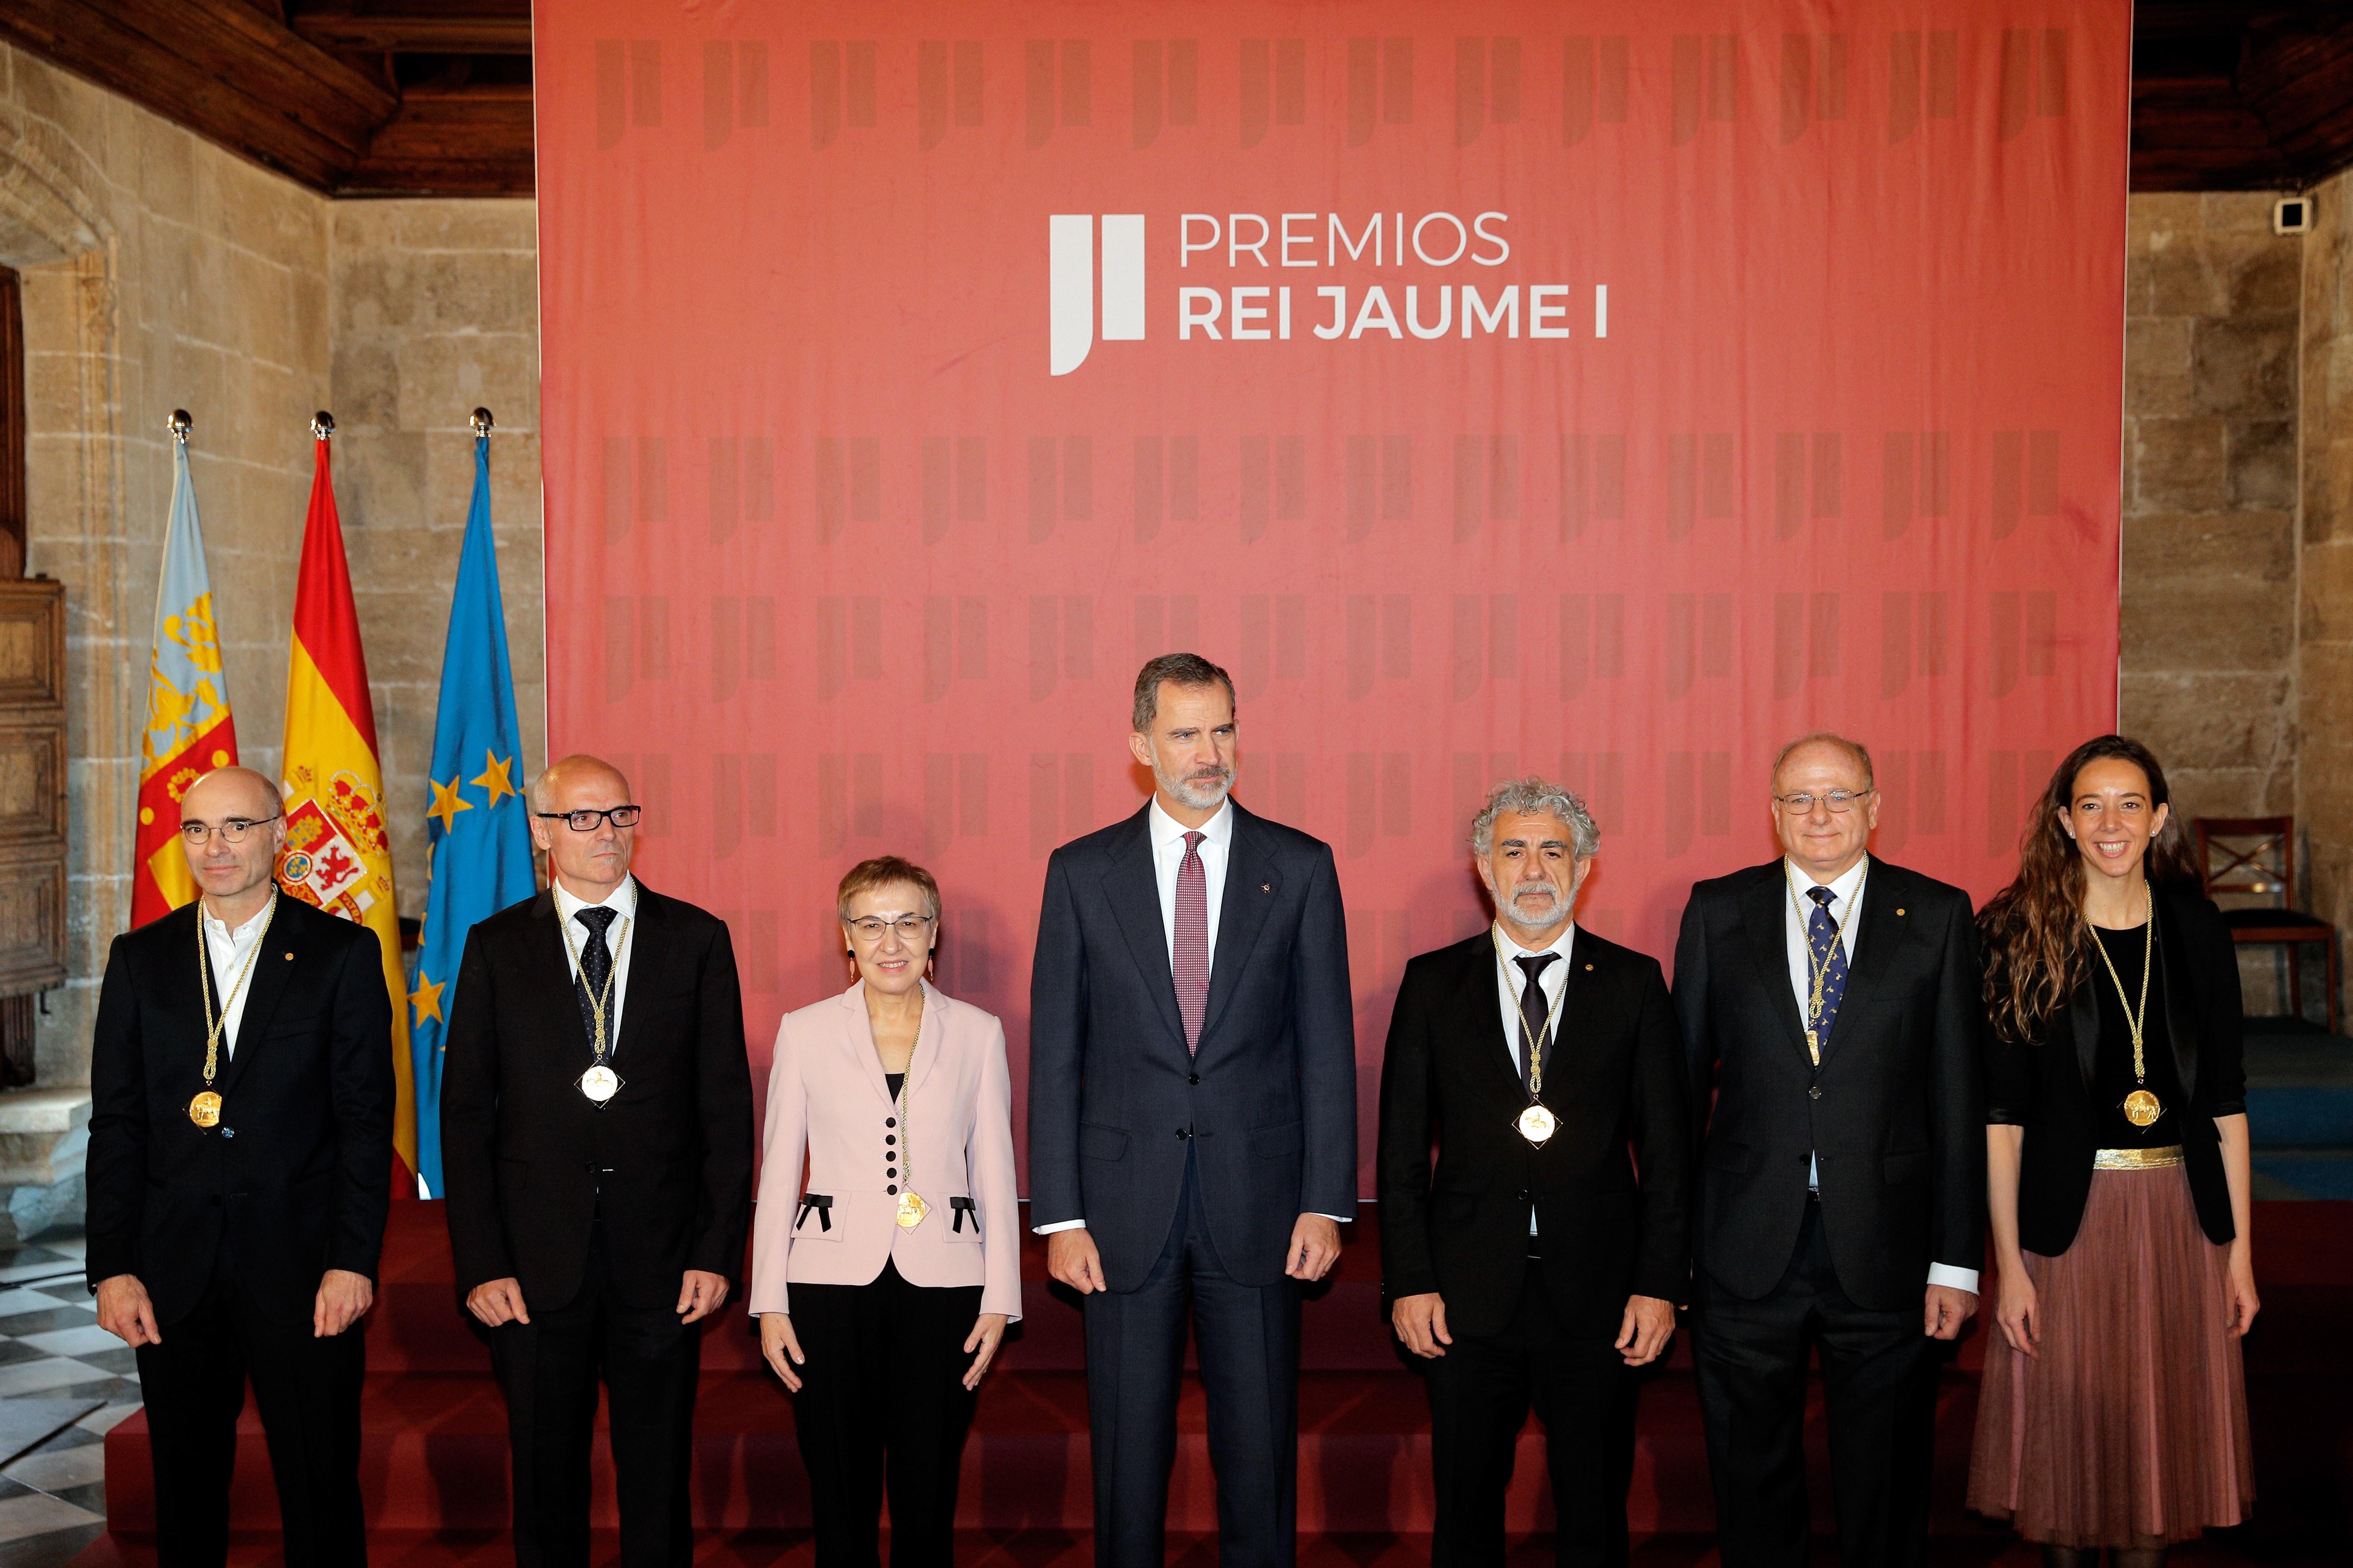
<path fill-rule="evenodd" d="M 40 1081 L 89 1074 L 129 827 L 172 494 L 165 418 L 195 418 L 240 757 L 275 773 L 313 409 L 384 748 L 400 907 L 424 912 L 424 773 L 449 585 L 487 404 L 492 515 L 525 726 L 544 759 L 539 329 L 532 202 L 329 202 L 144 108 L 0 47 L 0 263 L 24 275 L 31 571 L 71 616 L 71 896 Z M 520 776 L 518 773 L 518 776 Z"/>

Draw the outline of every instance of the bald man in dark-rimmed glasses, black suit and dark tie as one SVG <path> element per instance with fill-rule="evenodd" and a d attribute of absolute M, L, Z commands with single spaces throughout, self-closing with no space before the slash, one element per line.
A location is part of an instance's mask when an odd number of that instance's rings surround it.
<path fill-rule="evenodd" d="M 551 886 L 466 938 L 442 1067 L 449 1251 L 506 1387 L 520 1568 L 586 1568 L 598 1373 L 621 1563 L 685 1568 L 701 1328 L 751 1220 L 734 947 L 628 872 L 595 757 L 532 780 Z"/>

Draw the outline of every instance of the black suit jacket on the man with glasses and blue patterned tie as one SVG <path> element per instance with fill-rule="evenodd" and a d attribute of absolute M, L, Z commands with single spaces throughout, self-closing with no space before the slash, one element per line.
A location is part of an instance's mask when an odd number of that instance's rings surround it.
<path fill-rule="evenodd" d="M 1774 860 L 1692 886 L 1682 910 L 1675 1011 L 1704 1143 L 1694 1260 L 1737 1298 L 1769 1293 L 1798 1248 L 1819 1152 L 1840 1288 L 1875 1312 L 1915 1307 L 1932 1262 L 1986 1262 L 1969 896 L 1871 860 L 1819 1074 L 1791 992 L 1788 898 Z"/>

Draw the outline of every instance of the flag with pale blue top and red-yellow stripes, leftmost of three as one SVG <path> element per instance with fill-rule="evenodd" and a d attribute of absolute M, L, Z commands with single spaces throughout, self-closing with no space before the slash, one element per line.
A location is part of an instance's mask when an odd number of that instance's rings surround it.
<path fill-rule="evenodd" d="M 238 722 L 221 679 L 221 632 L 212 621 L 205 529 L 195 522 L 188 437 L 172 440 L 172 522 L 155 590 L 155 654 L 148 658 L 148 724 L 139 745 L 139 832 L 132 867 L 132 924 L 144 926 L 195 898 L 179 853 L 179 797 L 212 769 L 238 759 Z"/>

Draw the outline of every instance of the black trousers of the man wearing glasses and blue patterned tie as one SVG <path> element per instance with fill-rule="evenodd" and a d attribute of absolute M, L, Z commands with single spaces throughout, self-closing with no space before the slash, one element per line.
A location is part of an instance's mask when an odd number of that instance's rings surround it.
<path fill-rule="evenodd" d="M 1920 1286 L 1925 1295 L 1927 1279 Z M 1760 1300 L 1739 1300 L 1701 1272 L 1692 1356 L 1725 1568 L 1805 1568 L 1805 1363 L 1814 1349 L 1840 1563 L 1925 1561 L 1941 1345 L 1920 1331 L 1920 1312 L 1847 1300 L 1821 1204 L 1805 1206 L 1788 1272 Z"/>

